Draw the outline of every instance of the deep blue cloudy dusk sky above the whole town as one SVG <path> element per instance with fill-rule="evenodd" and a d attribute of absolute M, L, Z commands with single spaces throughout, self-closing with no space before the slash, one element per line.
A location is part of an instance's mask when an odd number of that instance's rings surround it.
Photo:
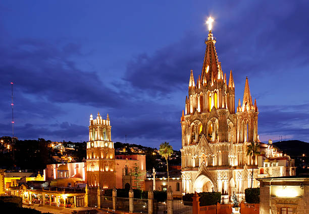
<path fill-rule="evenodd" d="M 88 139 L 109 113 L 112 140 L 181 147 L 180 117 L 201 72 L 205 19 L 238 98 L 248 76 L 262 141 L 309 141 L 307 1 L 7 1 L 0 3 L 0 135 Z"/>

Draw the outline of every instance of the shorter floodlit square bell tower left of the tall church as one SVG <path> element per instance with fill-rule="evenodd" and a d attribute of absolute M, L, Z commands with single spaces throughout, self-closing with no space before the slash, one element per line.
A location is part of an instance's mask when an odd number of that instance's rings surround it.
<path fill-rule="evenodd" d="M 102 119 L 97 113 L 96 119 L 90 114 L 89 142 L 87 142 L 87 184 L 89 187 L 114 188 L 115 149 L 111 140 L 111 121 L 109 114 Z"/>

